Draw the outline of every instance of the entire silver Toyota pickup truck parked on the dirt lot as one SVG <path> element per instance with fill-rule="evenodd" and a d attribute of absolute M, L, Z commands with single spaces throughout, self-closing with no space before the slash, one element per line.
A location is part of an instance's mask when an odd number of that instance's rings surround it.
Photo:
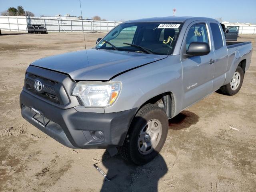
<path fill-rule="evenodd" d="M 216 90 L 236 94 L 251 56 L 251 42 L 226 42 L 211 18 L 127 21 L 94 48 L 32 62 L 21 113 L 65 146 L 141 165 L 162 149 L 168 119 Z"/>

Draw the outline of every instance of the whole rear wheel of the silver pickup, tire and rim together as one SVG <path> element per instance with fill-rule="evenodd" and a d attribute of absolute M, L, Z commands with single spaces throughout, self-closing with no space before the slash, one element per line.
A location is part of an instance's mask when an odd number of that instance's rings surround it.
<path fill-rule="evenodd" d="M 218 90 L 218 92 L 225 95 L 234 95 L 238 93 L 238 91 L 242 87 L 243 80 L 244 80 L 244 71 L 240 66 L 238 66 L 229 84 L 222 86 Z"/>

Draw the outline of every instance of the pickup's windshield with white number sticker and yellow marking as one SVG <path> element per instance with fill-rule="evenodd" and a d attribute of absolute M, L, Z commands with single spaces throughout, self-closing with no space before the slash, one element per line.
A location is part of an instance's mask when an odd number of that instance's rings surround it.
<path fill-rule="evenodd" d="M 97 45 L 97 49 L 172 54 L 181 23 L 139 22 L 124 23 L 112 29 Z"/>

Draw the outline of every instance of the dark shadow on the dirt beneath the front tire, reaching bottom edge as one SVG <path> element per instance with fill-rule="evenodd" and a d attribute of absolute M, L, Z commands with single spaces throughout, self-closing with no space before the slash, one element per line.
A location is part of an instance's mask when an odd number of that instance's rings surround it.
<path fill-rule="evenodd" d="M 166 162 L 160 154 L 146 165 L 135 166 L 123 160 L 120 154 L 110 157 L 105 151 L 98 166 L 108 170 L 106 174 L 110 179 L 104 180 L 101 192 L 157 192 L 159 179 L 168 171 Z"/>

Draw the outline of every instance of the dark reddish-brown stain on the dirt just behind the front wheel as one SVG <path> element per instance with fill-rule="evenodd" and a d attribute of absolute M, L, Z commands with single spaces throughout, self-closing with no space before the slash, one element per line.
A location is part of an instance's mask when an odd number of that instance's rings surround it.
<path fill-rule="evenodd" d="M 182 111 L 177 116 L 169 120 L 169 129 L 181 130 L 189 128 L 199 121 L 199 116 L 191 111 Z"/>

